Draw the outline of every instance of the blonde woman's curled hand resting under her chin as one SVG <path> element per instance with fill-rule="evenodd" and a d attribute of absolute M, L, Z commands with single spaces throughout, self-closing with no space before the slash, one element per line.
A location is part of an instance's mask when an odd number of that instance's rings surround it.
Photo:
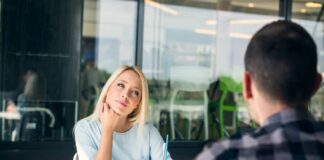
<path fill-rule="evenodd" d="M 102 103 L 99 118 L 104 131 L 113 132 L 118 124 L 119 117 L 119 114 L 107 103 Z"/>

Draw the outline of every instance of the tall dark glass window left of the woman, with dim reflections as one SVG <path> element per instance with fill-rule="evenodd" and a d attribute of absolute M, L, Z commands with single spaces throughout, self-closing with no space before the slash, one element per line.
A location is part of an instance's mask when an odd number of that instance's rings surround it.
<path fill-rule="evenodd" d="M 82 4 L 2 4 L 0 141 L 72 140 Z"/>

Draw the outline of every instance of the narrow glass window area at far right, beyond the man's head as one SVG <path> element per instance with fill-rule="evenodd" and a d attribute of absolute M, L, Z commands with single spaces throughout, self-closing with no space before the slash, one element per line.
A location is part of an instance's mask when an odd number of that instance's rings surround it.
<path fill-rule="evenodd" d="M 315 40 L 318 53 L 318 70 L 324 75 L 324 28 L 323 3 L 301 0 L 293 2 L 292 21 L 302 25 Z M 318 120 L 324 120 L 323 85 L 312 98 L 310 110 Z"/>

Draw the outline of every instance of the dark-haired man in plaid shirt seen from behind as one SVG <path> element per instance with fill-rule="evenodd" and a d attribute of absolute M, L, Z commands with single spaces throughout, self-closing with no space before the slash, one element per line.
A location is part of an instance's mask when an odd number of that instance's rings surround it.
<path fill-rule="evenodd" d="M 311 36 L 273 22 L 253 36 L 244 60 L 243 96 L 261 127 L 211 144 L 197 159 L 324 159 L 324 126 L 307 110 L 322 81 Z"/>

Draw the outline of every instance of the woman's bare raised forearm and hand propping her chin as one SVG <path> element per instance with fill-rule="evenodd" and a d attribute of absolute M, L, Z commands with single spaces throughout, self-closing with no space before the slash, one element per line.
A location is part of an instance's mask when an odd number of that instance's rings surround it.
<path fill-rule="evenodd" d="M 111 160 L 113 132 L 119 121 L 119 115 L 110 109 L 108 104 L 103 103 L 99 117 L 102 125 L 102 134 L 96 160 Z"/>

